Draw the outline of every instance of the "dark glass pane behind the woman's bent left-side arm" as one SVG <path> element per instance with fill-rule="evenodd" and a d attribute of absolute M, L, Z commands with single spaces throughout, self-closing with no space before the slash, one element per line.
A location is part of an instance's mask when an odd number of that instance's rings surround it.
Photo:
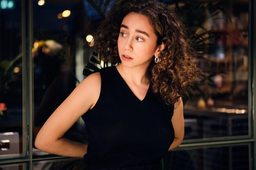
<path fill-rule="evenodd" d="M 34 136 L 54 110 L 70 95 L 83 76 L 83 57 L 88 49 L 82 49 L 80 68 L 76 64 L 76 45 L 79 40 L 79 24 L 83 20 L 82 2 L 47 1 L 39 6 L 34 1 Z M 70 16 L 60 16 L 70 10 Z M 60 15 L 59 15 L 60 14 Z M 79 19 L 79 22 L 77 20 Z M 84 39 L 82 37 L 81 39 Z M 83 43 L 83 42 L 82 42 Z M 83 48 L 83 44 L 79 44 Z M 81 70 L 79 72 L 79 69 Z M 85 124 L 80 119 L 66 132 L 66 138 L 86 143 Z M 36 148 L 34 156 L 46 155 Z"/>

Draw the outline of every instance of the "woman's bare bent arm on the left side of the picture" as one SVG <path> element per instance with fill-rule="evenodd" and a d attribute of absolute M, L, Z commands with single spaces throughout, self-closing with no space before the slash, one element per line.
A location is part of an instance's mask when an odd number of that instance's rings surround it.
<path fill-rule="evenodd" d="M 36 136 L 36 148 L 55 155 L 83 157 L 88 145 L 70 141 L 63 135 L 79 117 L 95 105 L 100 89 L 100 73 L 86 77 L 47 119 Z"/>

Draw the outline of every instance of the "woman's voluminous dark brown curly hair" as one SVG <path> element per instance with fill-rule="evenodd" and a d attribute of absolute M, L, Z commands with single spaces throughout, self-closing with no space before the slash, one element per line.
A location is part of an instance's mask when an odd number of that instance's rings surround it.
<path fill-rule="evenodd" d="M 156 64 L 152 60 L 148 67 L 152 92 L 159 93 L 166 104 L 178 102 L 188 92 L 188 86 L 193 85 L 200 69 L 186 38 L 185 26 L 166 4 L 154 0 L 123 0 L 114 4 L 97 30 L 94 50 L 104 62 L 121 62 L 117 39 L 121 22 L 130 12 L 147 16 L 157 35 L 157 45 L 164 44 L 159 54 L 161 62 Z"/>

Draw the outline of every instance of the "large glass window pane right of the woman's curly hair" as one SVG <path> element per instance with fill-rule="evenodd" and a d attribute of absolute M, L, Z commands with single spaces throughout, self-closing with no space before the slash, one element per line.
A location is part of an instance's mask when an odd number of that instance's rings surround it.
<path fill-rule="evenodd" d="M 249 1 L 198 3 L 181 3 L 179 10 L 204 71 L 194 96 L 183 98 L 184 139 L 249 135 Z"/>

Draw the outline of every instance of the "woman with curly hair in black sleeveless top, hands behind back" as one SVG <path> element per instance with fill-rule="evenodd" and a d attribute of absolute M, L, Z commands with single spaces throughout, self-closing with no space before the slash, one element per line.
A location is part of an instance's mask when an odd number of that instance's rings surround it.
<path fill-rule="evenodd" d="M 183 25 L 165 4 L 124 0 L 97 31 L 95 51 L 118 64 L 86 77 L 38 133 L 38 149 L 84 157 L 90 170 L 158 170 L 184 137 L 181 95 L 199 71 Z M 89 145 L 63 138 L 82 117 Z"/>

